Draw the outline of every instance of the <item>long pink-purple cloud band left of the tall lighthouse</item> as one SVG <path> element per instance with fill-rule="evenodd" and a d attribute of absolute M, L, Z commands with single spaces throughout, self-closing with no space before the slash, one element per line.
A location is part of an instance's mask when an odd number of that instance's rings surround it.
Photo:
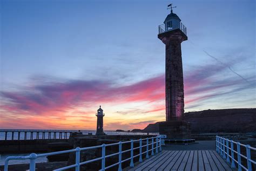
<path fill-rule="evenodd" d="M 109 81 L 70 80 L 63 83 L 35 85 L 27 91 L 1 92 L 8 100 L 2 107 L 6 110 L 31 115 L 51 115 L 52 112 L 68 112 L 81 105 L 98 102 L 154 101 L 164 95 L 164 76 L 139 83 L 113 87 Z"/>

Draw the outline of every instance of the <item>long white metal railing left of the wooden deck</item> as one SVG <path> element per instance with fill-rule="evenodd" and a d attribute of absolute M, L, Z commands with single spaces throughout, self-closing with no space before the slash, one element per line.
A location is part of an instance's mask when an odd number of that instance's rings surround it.
<path fill-rule="evenodd" d="M 30 166 L 29 166 L 29 170 L 30 171 L 35 171 L 36 169 L 36 159 L 37 158 L 41 158 L 44 156 L 50 156 L 50 155 L 56 155 L 56 154 L 64 154 L 64 153 L 71 153 L 71 152 L 76 152 L 76 163 L 74 165 L 70 165 L 70 166 L 66 166 L 66 167 L 62 167 L 59 169 L 56 169 L 56 171 L 58 170 L 65 170 L 65 169 L 69 169 L 69 168 L 75 168 L 76 171 L 79 171 L 79 168 L 81 165 L 85 165 L 86 163 L 90 163 L 90 162 L 94 162 L 94 161 L 98 161 L 98 160 L 102 160 L 102 169 L 100 170 L 105 170 L 108 168 L 111 168 L 113 166 L 118 165 L 118 171 L 122 170 L 122 163 L 128 160 L 130 161 L 130 167 L 134 167 L 134 163 L 133 163 L 133 159 L 139 156 L 139 162 L 143 162 L 142 159 L 142 154 L 146 153 L 146 159 L 149 159 L 149 152 L 151 151 L 151 155 L 154 155 L 154 153 L 158 153 L 159 151 L 161 151 L 161 146 L 162 146 L 162 140 L 163 139 L 163 135 L 158 135 L 158 136 L 154 136 L 151 138 L 145 138 L 145 139 L 139 139 L 139 140 L 131 140 L 131 141 L 119 141 L 117 143 L 110 143 L 110 144 L 102 144 L 100 146 L 93 146 L 93 147 L 84 147 L 84 148 L 79 148 L 77 147 L 76 149 L 70 149 L 70 150 L 66 150 L 66 151 L 60 151 L 60 152 L 52 152 L 52 153 L 44 153 L 44 154 L 35 154 L 32 153 L 29 156 L 9 156 L 8 158 L 5 159 L 5 163 L 4 163 L 4 171 L 8 171 L 8 162 L 9 160 L 25 160 L 25 159 L 29 159 L 30 160 Z M 142 141 L 146 141 L 146 145 L 142 145 Z M 151 143 L 149 143 L 149 141 L 151 140 Z M 133 147 L 133 143 L 139 141 L 139 147 Z M 122 144 L 124 143 L 131 143 L 131 148 L 127 149 L 125 151 L 122 151 Z M 156 145 L 154 145 L 156 144 Z M 113 153 L 110 155 L 105 155 L 105 148 L 108 146 L 114 146 L 114 145 L 119 145 L 119 152 L 118 153 Z M 149 146 L 151 145 L 151 149 L 149 149 Z M 142 152 L 142 148 L 146 147 L 146 151 Z M 85 151 L 87 149 L 95 149 L 95 148 L 102 148 L 102 157 L 97 158 L 97 159 L 92 159 L 92 160 L 88 160 L 88 161 L 83 161 L 80 162 L 80 152 L 81 151 Z M 139 149 L 139 154 L 134 155 L 133 156 L 133 150 L 134 149 Z M 154 152 L 155 150 L 155 152 Z M 122 153 L 125 152 L 129 152 L 131 151 L 131 157 L 125 160 L 122 160 Z M 114 155 L 118 155 L 119 159 L 117 163 L 114 163 L 113 165 L 110 166 L 105 166 L 105 159 L 106 158 L 110 158 L 111 156 Z"/>

